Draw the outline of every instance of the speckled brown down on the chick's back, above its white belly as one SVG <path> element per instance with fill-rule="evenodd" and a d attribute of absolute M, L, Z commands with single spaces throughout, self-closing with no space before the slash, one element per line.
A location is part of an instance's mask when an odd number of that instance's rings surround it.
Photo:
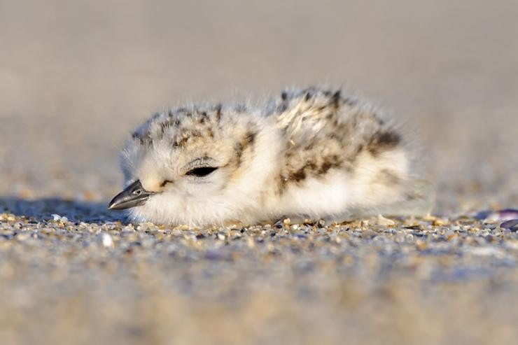
<path fill-rule="evenodd" d="M 289 183 L 325 178 L 332 169 L 353 174 L 363 150 L 376 155 L 401 141 L 374 109 L 343 97 L 340 90 L 283 91 L 274 109 L 269 115 L 286 135 L 279 192 Z"/>

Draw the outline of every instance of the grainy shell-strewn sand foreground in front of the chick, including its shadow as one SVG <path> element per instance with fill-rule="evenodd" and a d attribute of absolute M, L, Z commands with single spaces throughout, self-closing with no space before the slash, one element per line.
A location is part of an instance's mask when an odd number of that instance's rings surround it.
<path fill-rule="evenodd" d="M 494 216 L 196 230 L 132 225 L 101 204 L 10 198 L 1 208 L 6 344 L 512 344 L 517 335 L 518 233 Z"/>

